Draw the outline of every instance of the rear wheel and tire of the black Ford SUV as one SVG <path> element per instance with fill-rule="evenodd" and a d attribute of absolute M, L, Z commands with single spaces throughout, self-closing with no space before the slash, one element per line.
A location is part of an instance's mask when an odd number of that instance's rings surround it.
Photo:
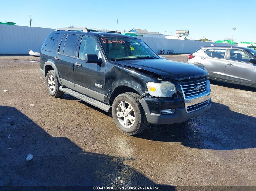
<path fill-rule="evenodd" d="M 46 75 L 46 87 L 52 97 L 60 97 L 64 94 L 60 91 L 60 83 L 55 70 L 50 70 Z"/>

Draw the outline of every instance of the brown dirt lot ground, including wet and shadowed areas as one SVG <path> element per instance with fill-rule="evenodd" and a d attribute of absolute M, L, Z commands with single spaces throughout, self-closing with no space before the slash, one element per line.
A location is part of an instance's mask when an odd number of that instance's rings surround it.
<path fill-rule="evenodd" d="M 51 97 L 36 59 L 0 55 L 0 185 L 256 186 L 255 88 L 211 81 L 208 112 L 129 136 L 110 113 Z"/>

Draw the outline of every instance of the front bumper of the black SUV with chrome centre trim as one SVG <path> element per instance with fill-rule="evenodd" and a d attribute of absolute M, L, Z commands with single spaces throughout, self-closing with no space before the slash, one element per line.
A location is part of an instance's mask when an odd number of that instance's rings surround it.
<path fill-rule="evenodd" d="M 180 86 L 179 88 L 177 86 L 177 91 L 181 94 L 181 96 L 178 96 L 175 99 L 153 97 L 142 98 L 140 103 L 144 109 L 148 123 L 181 123 L 208 111 L 211 107 L 211 90 L 209 80 L 206 80 L 206 83 L 207 91 L 195 96 L 185 96 L 182 87 Z M 183 97 L 183 99 L 180 97 Z M 175 109 L 175 113 L 162 114 L 162 109 Z"/>

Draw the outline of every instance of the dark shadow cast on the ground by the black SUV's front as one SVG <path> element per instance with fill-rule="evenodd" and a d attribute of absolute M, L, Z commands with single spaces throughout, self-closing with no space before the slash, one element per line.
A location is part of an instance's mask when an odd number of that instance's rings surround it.
<path fill-rule="evenodd" d="M 187 122 L 161 126 L 150 124 L 135 136 L 154 141 L 181 142 L 184 146 L 200 149 L 255 148 L 256 118 L 213 102 L 208 112 Z"/>

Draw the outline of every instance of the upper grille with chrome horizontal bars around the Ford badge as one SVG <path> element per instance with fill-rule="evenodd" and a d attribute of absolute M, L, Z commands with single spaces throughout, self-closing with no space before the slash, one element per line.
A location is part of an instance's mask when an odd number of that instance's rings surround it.
<path fill-rule="evenodd" d="M 192 96 L 196 96 L 199 94 L 203 94 L 207 91 L 207 82 L 206 80 L 201 81 L 201 82 L 197 82 L 197 83 L 191 83 L 191 84 L 184 84 L 181 85 L 184 95 L 185 97 L 192 97 Z M 197 86 L 201 86 L 201 88 L 199 90 L 196 89 Z"/>

